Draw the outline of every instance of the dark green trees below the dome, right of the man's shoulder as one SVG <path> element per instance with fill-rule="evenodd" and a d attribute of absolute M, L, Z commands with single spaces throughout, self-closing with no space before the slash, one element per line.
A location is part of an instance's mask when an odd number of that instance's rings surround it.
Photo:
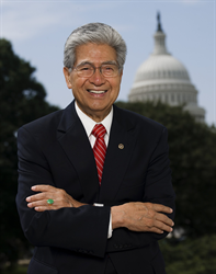
<path fill-rule="evenodd" d="M 215 232 L 216 130 L 196 123 L 182 106 L 158 102 L 125 103 L 120 107 L 155 119 L 168 128 L 173 187 L 177 194 L 175 227 L 190 237 Z"/>

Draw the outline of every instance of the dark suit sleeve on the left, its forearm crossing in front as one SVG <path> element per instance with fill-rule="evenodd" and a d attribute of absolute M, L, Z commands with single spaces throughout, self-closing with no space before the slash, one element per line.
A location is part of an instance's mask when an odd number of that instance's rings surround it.
<path fill-rule="evenodd" d="M 25 198 L 35 194 L 31 186 L 53 185 L 48 161 L 37 138 L 24 127 L 18 134 L 19 186 L 16 206 L 21 226 L 29 241 L 37 247 L 68 249 L 79 253 L 104 256 L 110 207 L 91 205 L 37 213 L 27 207 Z"/>

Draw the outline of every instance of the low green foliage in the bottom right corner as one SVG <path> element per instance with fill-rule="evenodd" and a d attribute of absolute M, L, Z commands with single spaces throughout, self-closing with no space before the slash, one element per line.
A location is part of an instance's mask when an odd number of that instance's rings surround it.
<path fill-rule="evenodd" d="M 215 274 L 216 236 L 186 239 L 182 242 L 160 242 L 168 274 Z"/>

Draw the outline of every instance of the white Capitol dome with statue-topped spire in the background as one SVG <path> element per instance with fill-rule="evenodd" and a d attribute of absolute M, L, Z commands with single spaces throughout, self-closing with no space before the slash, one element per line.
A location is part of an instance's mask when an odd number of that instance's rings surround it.
<path fill-rule="evenodd" d="M 161 101 L 169 105 L 182 105 L 196 121 L 204 122 L 205 110 L 197 105 L 197 91 L 190 80 L 186 68 L 166 48 L 158 14 L 155 48 L 149 58 L 138 68 L 129 92 L 129 102 Z"/>

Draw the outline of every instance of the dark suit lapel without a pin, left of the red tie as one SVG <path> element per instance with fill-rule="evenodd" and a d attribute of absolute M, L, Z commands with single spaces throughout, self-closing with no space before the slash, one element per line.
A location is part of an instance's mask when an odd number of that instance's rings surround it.
<path fill-rule="evenodd" d="M 64 111 L 57 139 L 77 171 L 84 201 L 95 202 L 100 187 L 95 161 L 86 130 L 76 113 L 75 102 Z"/>

